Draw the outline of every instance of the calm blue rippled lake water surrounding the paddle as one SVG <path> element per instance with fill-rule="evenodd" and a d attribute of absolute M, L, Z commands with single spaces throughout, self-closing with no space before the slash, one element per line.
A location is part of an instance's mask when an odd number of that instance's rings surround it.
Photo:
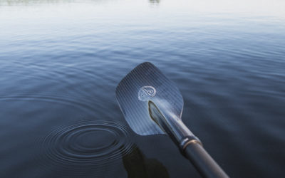
<path fill-rule="evenodd" d="M 231 177 L 285 174 L 283 1 L 0 0 L 0 177 L 199 177 L 135 135 L 115 87 L 144 61 Z"/>

